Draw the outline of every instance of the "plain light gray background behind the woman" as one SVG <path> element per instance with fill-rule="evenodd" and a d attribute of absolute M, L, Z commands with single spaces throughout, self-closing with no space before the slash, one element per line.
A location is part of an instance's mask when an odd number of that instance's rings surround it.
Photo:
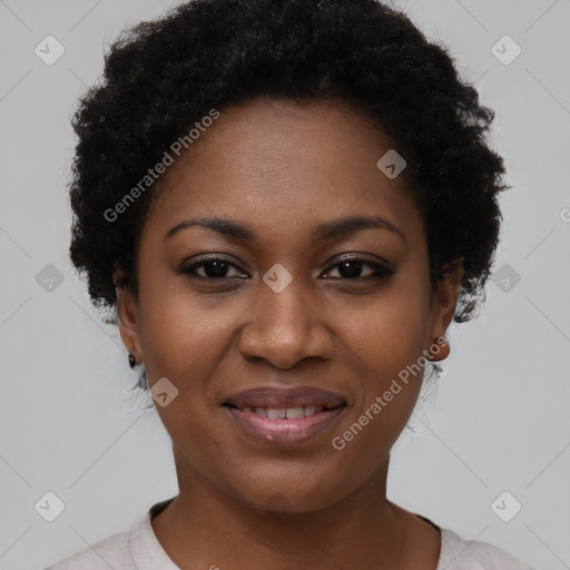
<path fill-rule="evenodd" d="M 146 401 L 128 392 L 136 376 L 120 338 L 67 259 L 66 195 L 69 117 L 104 48 L 125 24 L 169 6 L 0 0 L 2 570 L 47 566 L 177 492 L 169 438 L 154 411 L 137 413 Z M 570 568 L 570 2 L 397 6 L 450 46 L 495 109 L 493 145 L 513 189 L 501 198 L 487 304 L 474 322 L 451 327 L 438 390 L 394 449 L 389 497 L 539 569 Z M 52 66 L 35 53 L 48 35 L 66 49 Z M 491 51 L 504 35 L 522 49 L 510 65 Z M 49 284 L 48 264 L 61 284 Z M 48 491 L 65 503 L 53 522 L 35 509 Z M 504 491 L 522 504 L 509 522 L 491 508 Z M 512 513 L 512 499 L 499 504 Z"/>

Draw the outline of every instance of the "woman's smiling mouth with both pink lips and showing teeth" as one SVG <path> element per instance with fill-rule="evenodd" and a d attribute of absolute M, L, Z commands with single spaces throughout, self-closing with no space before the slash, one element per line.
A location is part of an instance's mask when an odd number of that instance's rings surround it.
<path fill-rule="evenodd" d="M 222 404 L 232 425 L 272 445 L 298 445 L 323 435 L 347 407 L 340 395 L 317 389 L 255 389 Z"/>

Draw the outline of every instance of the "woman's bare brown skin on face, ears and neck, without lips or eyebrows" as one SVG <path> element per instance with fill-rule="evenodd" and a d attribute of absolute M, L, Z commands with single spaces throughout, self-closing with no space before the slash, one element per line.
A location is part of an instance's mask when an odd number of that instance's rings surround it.
<path fill-rule="evenodd" d="M 158 181 L 138 252 L 138 298 L 118 291 L 125 346 L 150 386 L 167 377 L 179 391 L 155 404 L 179 484 L 151 521 L 155 534 L 183 570 L 435 570 L 439 532 L 386 499 L 390 450 L 421 374 L 345 449 L 331 442 L 445 334 L 461 264 L 431 286 L 420 210 L 404 177 L 376 167 L 394 145 L 357 111 L 257 99 L 220 112 Z M 385 228 L 311 237 L 322 222 L 356 215 L 381 216 L 404 237 Z M 214 216 L 250 226 L 258 239 L 199 226 L 165 238 L 185 219 Z M 206 282 L 212 265 L 196 269 L 203 279 L 178 272 L 213 253 L 232 264 L 225 282 Z M 363 265 L 346 277 L 346 254 L 385 259 L 395 274 L 370 278 Z M 276 263 L 293 277 L 278 294 L 263 281 Z M 444 346 L 431 360 L 448 355 Z M 220 405 L 266 385 L 331 390 L 347 406 L 312 440 L 269 446 Z"/>

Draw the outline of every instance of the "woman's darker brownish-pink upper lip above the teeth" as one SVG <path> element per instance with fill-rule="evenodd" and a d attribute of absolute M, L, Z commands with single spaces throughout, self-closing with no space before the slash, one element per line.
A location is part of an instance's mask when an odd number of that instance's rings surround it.
<path fill-rule="evenodd" d="M 323 407 L 338 407 L 345 405 L 346 401 L 326 390 L 317 387 L 255 387 L 239 392 L 226 399 L 224 404 L 232 404 L 236 407 L 272 407 L 276 410 L 287 407 L 303 407 L 307 405 Z"/>

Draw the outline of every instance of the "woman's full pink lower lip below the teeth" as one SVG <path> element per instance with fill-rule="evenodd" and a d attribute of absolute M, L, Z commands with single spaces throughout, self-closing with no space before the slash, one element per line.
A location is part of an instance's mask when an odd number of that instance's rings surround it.
<path fill-rule="evenodd" d="M 266 443 L 283 445 L 303 443 L 330 428 L 345 406 L 307 417 L 272 420 L 237 407 L 224 406 L 239 428 Z"/>

